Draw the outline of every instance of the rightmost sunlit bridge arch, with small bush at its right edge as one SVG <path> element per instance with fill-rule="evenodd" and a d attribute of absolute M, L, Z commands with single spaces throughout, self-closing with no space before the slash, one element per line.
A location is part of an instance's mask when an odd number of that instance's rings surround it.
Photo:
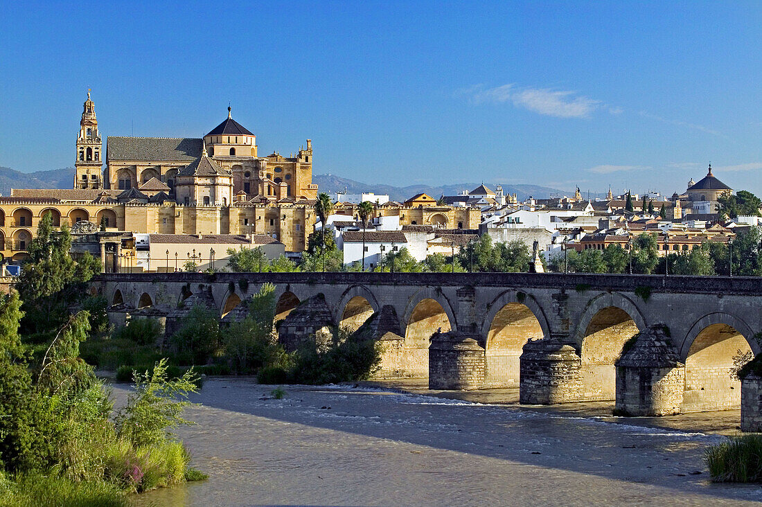
<path fill-rule="evenodd" d="M 751 326 L 730 313 L 709 313 L 690 327 L 680 347 L 685 363 L 681 412 L 734 409 L 741 405 L 741 382 L 732 377 L 735 358 L 760 353 Z"/>

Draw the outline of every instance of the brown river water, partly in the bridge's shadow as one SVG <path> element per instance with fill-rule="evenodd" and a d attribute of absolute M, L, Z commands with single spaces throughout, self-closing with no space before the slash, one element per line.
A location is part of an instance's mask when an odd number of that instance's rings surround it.
<path fill-rule="evenodd" d="M 738 410 L 623 419 L 610 403 L 525 407 L 517 390 L 421 381 L 274 386 L 207 380 L 178 432 L 209 479 L 135 496 L 167 505 L 741 505 L 762 487 L 709 482 L 703 451 Z M 117 385 L 119 398 L 129 388 Z"/>

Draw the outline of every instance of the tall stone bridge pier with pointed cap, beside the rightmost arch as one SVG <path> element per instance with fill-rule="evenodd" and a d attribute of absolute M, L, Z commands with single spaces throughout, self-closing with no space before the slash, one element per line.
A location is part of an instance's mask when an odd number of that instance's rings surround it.
<path fill-rule="evenodd" d="M 685 364 L 664 332 L 651 326 L 626 342 L 616 361 L 616 408 L 621 416 L 668 416 L 680 413 Z"/>

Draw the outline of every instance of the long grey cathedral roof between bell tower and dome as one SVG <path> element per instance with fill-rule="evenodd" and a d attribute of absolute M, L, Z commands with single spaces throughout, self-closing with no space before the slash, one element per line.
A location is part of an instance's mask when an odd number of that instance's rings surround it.
<path fill-rule="evenodd" d="M 106 159 L 190 162 L 201 156 L 202 140 L 191 137 L 106 138 Z"/>

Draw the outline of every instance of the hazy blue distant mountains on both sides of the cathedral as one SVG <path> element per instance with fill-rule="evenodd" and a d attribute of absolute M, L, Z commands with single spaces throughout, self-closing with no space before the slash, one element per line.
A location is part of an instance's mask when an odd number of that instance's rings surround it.
<path fill-rule="evenodd" d="M 72 188 L 72 178 L 74 178 L 74 168 L 66 167 L 53 169 L 52 171 L 20 172 L 9 167 L 0 166 L 0 194 L 8 196 L 11 194 L 11 188 Z M 384 185 L 381 183 L 361 183 L 349 178 L 341 178 L 336 175 L 313 175 L 312 183 L 316 183 L 322 192 L 335 194 L 336 192 L 347 191 L 347 194 L 360 194 L 362 192 L 373 192 L 374 194 L 389 194 L 392 201 L 406 201 L 415 194 L 425 192 L 431 197 L 439 198 L 440 195 L 456 195 L 461 191 L 472 191 L 481 185 L 480 183 L 458 183 L 455 185 L 408 185 L 406 187 L 395 187 L 394 185 Z M 497 184 L 485 183 L 488 188 L 495 191 Z M 505 194 L 517 194 L 520 201 L 523 201 L 530 195 L 536 199 L 547 199 L 549 197 L 564 195 L 572 196 L 574 191 L 563 191 L 558 188 L 542 187 L 539 185 L 503 185 Z M 591 194 L 592 198 L 603 197 L 604 194 Z M 588 197 L 585 195 L 584 197 Z"/>

